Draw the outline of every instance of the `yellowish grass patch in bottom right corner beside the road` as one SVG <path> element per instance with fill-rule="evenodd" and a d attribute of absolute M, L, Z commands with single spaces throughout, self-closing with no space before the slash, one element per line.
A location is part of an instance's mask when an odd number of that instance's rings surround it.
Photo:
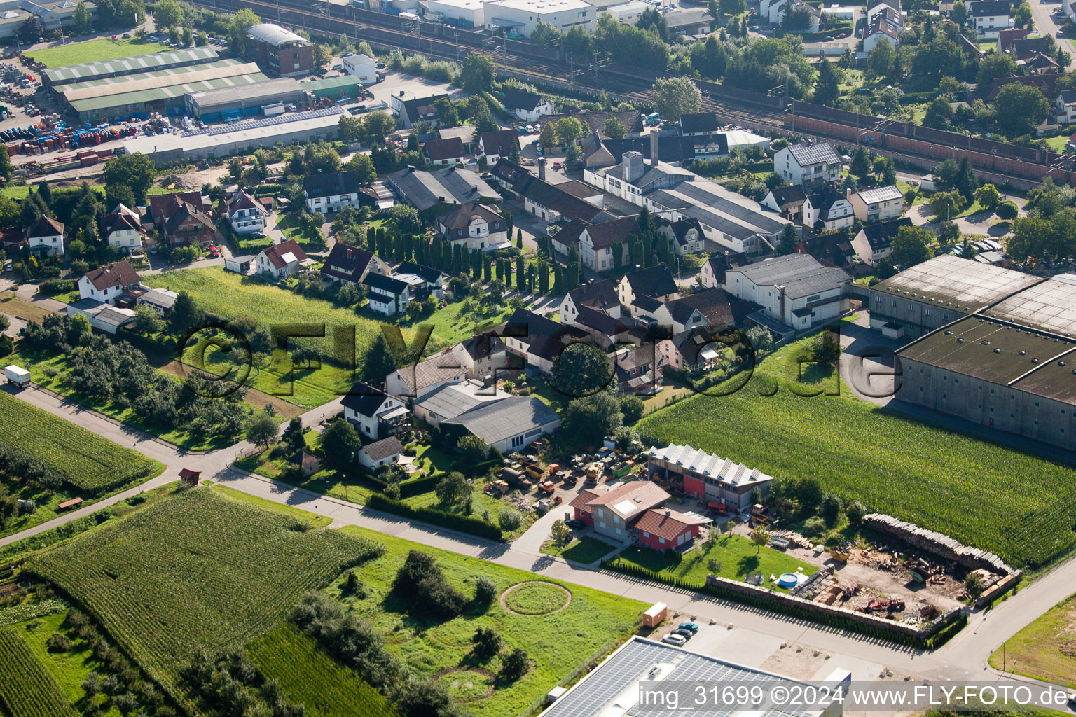
<path fill-rule="evenodd" d="M 990 656 L 994 670 L 1076 689 L 1076 594 L 1008 639 Z"/>

